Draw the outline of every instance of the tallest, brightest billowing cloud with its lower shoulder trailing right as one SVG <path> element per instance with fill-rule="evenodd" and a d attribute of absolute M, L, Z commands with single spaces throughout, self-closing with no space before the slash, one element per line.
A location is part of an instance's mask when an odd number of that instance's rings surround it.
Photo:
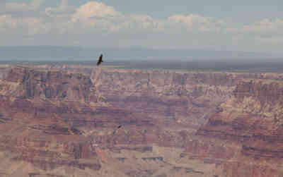
<path fill-rule="evenodd" d="M 123 15 L 111 6 L 96 1 L 88 2 L 76 9 L 71 22 L 86 31 L 145 32 L 161 30 L 161 20 L 146 15 Z"/>

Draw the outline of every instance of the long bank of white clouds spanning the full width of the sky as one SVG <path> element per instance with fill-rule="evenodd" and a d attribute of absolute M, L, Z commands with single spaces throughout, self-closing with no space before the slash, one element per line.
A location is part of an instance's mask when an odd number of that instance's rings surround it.
<path fill-rule="evenodd" d="M 245 49 L 256 42 L 270 47 L 282 44 L 283 20 L 265 18 L 248 25 L 235 25 L 197 14 L 175 14 L 165 19 L 146 14 L 123 14 L 96 1 L 74 7 L 69 6 L 68 0 L 62 0 L 53 8 L 44 6 L 44 0 L 33 0 L 30 4 L 1 1 L 0 32 L 0 37 L 5 35 L 6 39 L 7 35 L 17 35 L 15 40 L 28 36 L 34 38 L 33 42 L 37 42 L 37 38 L 40 42 L 48 38 L 50 42 L 53 39 L 54 44 L 80 45 L 86 41 L 92 44 L 93 39 L 107 44 L 112 42 L 111 37 L 117 40 L 115 44 L 125 45 L 141 42 L 145 46 L 185 48 L 219 44 L 219 47 L 238 45 L 239 49 Z"/>

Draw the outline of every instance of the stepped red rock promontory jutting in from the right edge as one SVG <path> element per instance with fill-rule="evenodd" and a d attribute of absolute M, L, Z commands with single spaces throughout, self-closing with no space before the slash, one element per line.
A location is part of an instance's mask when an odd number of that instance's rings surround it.
<path fill-rule="evenodd" d="M 233 97 L 221 104 L 222 111 L 197 130 L 197 135 L 237 142 L 238 155 L 229 159 L 237 159 L 239 169 L 225 164 L 226 176 L 282 175 L 282 89 L 279 81 L 241 81 Z"/>

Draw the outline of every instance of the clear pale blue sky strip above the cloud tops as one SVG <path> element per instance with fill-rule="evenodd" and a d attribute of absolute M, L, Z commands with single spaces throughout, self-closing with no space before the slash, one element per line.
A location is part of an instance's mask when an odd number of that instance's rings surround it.
<path fill-rule="evenodd" d="M 30 3 L 31 0 L 6 0 L 7 2 Z M 90 0 L 69 0 L 71 6 L 81 6 Z M 200 14 L 214 18 L 233 19 L 238 22 L 250 22 L 260 18 L 283 17 L 281 0 L 105 0 L 98 1 L 113 6 L 123 13 L 148 14 L 154 18 L 166 18 L 173 14 Z M 60 0 L 48 0 L 47 6 L 59 6 Z"/>

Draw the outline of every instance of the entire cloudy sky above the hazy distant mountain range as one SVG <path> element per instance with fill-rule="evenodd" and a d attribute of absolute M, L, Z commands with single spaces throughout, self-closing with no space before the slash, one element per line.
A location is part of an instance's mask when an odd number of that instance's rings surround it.
<path fill-rule="evenodd" d="M 282 0 L 0 0 L 0 46 L 283 54 Z"/>

